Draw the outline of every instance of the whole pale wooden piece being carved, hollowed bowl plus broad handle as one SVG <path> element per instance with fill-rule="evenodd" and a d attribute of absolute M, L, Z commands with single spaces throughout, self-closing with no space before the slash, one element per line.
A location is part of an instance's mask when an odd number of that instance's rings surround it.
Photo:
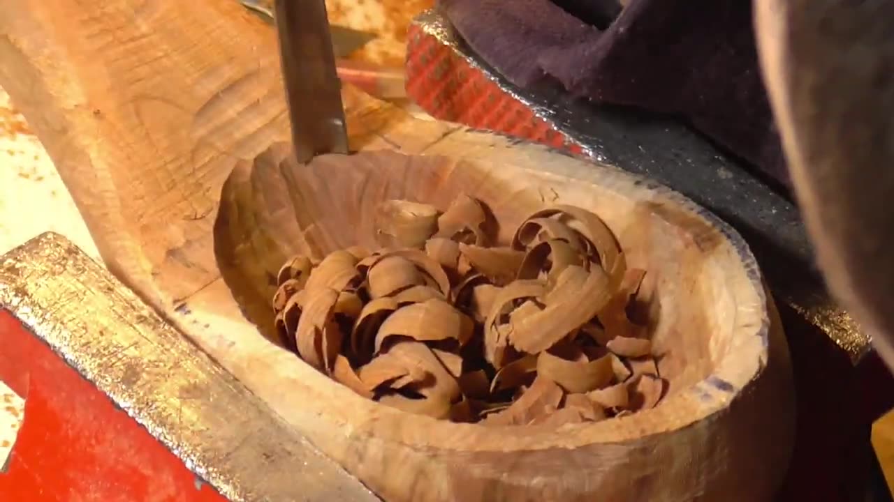
<path fill-rule="evenodd" d="M 274 38 L 238 4 L 15 11 L 0 19 L 0 84 L 109 269 L 384 498 L 771 498 L 792 440 L 788 351 L 754 258 L 711 215 L 611 167 L 418 121 L 352 88 L 343 98 L 360 153 L 271 169 L 253 160 L 288 138 Z M 661 406 L 560 430 L 435 422 L 352 394 L 240 314 L 234 294 L 243 307 L 266 294 L 249 272 L 371 238 L 360 214 L 384 197 L 443 205 L 460 190 L 506 229 L 557 202 L 603 216 L 631 262 L 660 278 L 655 343 L 671 381 Z M 242 219 L 228 226 L 234 207 Z"/>

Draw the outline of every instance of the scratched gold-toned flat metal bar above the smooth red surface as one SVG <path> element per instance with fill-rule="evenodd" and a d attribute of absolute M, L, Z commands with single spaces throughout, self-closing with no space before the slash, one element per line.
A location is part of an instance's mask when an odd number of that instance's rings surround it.
<path fill-rule="evenodd" d="M 377 500 L 68 239 L 0 257 L 0 305 L 224 497 Z"/>

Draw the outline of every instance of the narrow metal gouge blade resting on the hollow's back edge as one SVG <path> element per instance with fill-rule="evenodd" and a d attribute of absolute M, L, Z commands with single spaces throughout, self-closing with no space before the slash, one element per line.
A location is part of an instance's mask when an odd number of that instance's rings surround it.
<path fill-rule="evenodd" d="M 299 163 L 347 154 L 342 86 L 324 0 L 275 0 L 291 141 Z"/>

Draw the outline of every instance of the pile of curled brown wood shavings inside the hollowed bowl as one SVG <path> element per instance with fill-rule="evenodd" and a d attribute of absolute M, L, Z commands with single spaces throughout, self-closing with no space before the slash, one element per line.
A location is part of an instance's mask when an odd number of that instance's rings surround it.
<path fill-rule="evenodd" d="M 286 347 L 359 395 L 454 422 L 595 422 L 655 406 L 645 272 L 594 213 L 559 205 L 489 247 L 486 207 L 392 200 L 382 249 L 292 258 L 273 299 Z"/>

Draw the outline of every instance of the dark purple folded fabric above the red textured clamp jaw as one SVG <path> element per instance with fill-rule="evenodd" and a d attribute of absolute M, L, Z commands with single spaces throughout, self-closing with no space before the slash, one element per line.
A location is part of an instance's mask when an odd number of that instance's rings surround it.
<path fill-rule="evenodd" d="M 525 88 L 685 118 L 789 185 L 757 63 L 750 0 L 439 0 L 486 63 Z M 605 29 L 599 26 L 604 21 Z"/>

